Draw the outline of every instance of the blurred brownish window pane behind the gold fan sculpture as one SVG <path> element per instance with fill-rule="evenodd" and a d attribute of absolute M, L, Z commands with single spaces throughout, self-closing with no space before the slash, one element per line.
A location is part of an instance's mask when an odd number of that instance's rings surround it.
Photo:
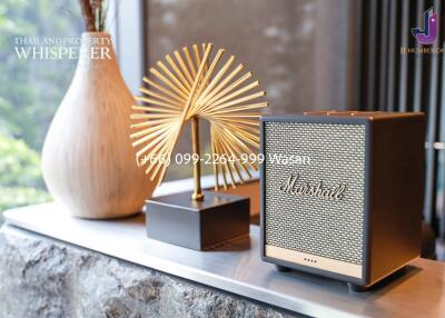
<path fill-rule="evenodd" d="M 253 71 L 274 113 L 344 109 L 347 103 L 349 1 L 149 0 L 147 64 L 184 46 L 212 42 Z M 201 125 L 201 152 L 209 152 Z M 190 129 L 177 152 L 190 152 Z M 204 167 L 211 173 L 211 167 Z M 167 179 L 191 177 L 172 166 Z"/>

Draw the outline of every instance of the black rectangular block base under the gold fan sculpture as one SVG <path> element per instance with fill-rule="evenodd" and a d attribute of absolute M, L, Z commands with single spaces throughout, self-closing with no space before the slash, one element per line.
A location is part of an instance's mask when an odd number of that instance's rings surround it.
<path fill-rule="evenodd" d="M 202 201 L 181 192 L 147 200 L 147 236 L 206 250 L 249 233 L 250 200 L 204 191 Z"/>

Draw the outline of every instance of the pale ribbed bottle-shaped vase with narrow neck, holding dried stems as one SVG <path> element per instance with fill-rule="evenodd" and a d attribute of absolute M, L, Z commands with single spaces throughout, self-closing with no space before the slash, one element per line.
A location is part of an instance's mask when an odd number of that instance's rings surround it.
<path fill-rule="evenodd" d="M 141 210 L 155 188 L 137 166 L 129 138 L 135 100 L 120 74 L 108 33 L 83 33 L 81 49 L 95 53 L 79 58 L 49 128 L 42 150 L 43 178 L 53 198 L 72 216 L 103 219 L 132 215 Z"/>

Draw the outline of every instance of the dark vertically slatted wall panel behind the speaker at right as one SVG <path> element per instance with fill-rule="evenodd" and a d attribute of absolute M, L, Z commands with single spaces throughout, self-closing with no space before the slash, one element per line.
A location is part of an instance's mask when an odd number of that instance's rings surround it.
<path fill-rule="evenodd" d="M 439 0 L 364 0 L 360 90 L 357 109 L 424 111 L 426 180 L 424 220 L 445 238 L 444 53 L 403 53 L 402 48 L 443 48 L 445 8 Z M 423 26 L 434 7 L 439 26 L 432 46 L 417 43 L 411 28 Z"/>

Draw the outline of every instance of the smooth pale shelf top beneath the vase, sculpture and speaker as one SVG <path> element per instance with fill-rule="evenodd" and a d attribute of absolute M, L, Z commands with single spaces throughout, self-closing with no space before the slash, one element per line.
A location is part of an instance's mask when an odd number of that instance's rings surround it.
<path fill-rule="evenodd" d="M 199 252 L 151 240 L 145 216 L 120 220 L 71 218 L 57 203 L 4 212 L 3 231 L 21 228 L 210 286 L 266 306 L 314 317 L 445 317 L 445 264 L 417 259 L 407 272 L 369 292 L 354 294 L 346 284 L 300 272 L 276 272 L 260 260 L 259 228 L 250 238 Z"/>

